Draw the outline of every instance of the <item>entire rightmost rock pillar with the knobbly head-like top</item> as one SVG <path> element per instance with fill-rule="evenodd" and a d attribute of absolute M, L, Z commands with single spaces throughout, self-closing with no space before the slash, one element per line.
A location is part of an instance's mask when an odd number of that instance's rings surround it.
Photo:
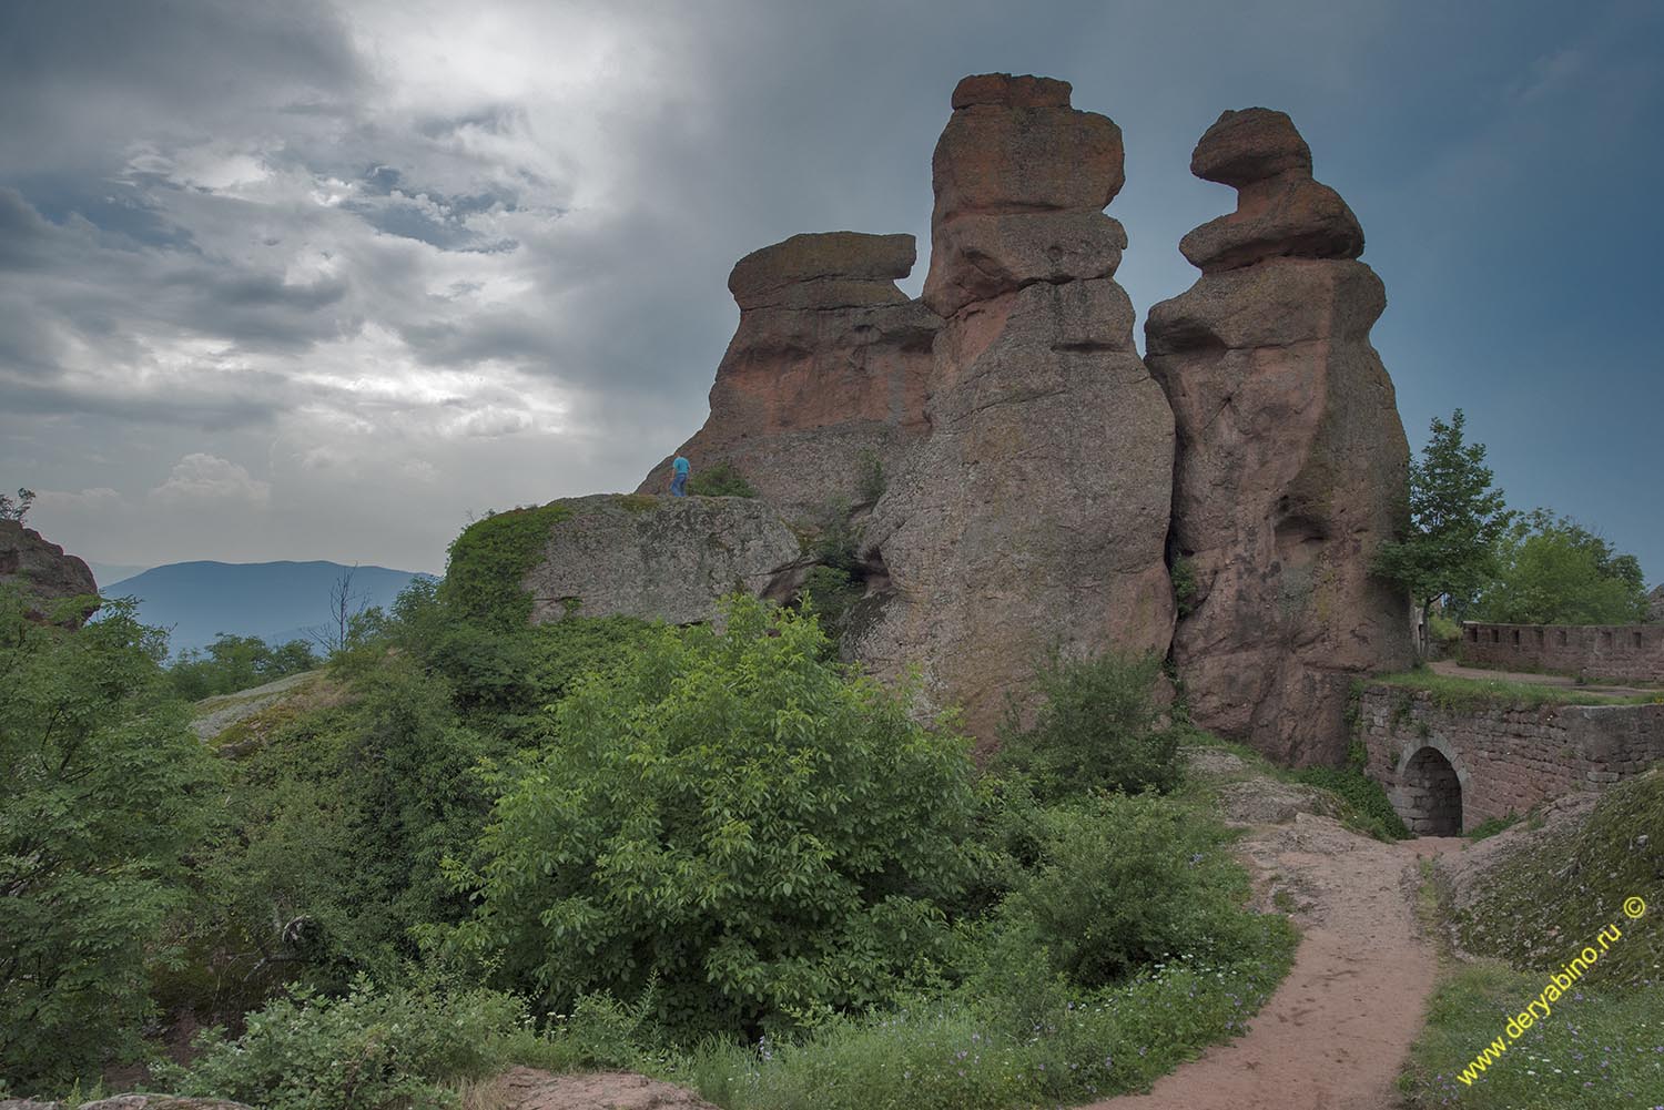
<path fill-rule="evenodd" d="M 1191 171 L 1238 208 L 1185 236 L 1203 276 L 1145 326 L 1178 421 L 1171 548 L 1196 582 L 1173 659 L 1203 727 L 1340 762 L 1351 677 L 1413 659 L 1408 599 L 1369 574 L 1409 466 L 1369 344 L 1386 293 L 1286 115 L 1226 111 Z"/>

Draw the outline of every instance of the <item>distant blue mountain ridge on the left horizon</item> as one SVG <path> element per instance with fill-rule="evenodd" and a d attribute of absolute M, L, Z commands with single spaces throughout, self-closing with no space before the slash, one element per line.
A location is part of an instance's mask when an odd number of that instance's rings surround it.
<path fill-rule="evenodd" d="M 171 629 L 175 654 L 206 647 L 220 632 L 270 644 L 306 639 L 329 624 L 329 592 L 351 572 L 351 606 L 388 606 L 416 571 L 339 562 L 170 562 L 102 586 L 105 597 L 138 597 L 145 624 Z"/>

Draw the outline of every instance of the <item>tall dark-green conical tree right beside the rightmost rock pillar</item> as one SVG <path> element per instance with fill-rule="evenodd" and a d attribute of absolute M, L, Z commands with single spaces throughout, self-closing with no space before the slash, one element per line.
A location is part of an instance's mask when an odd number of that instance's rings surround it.
<path fill-rule="evenodd" d="M 1461 409 L 1449 423 L 1433 418 L 1433 438 L 1409 463 L 1409 533 L 1376 553 L 1376 574 L 1409 591 L 1423 627 L 1434 601 L 1444 597 L 1459 614 L 1496 576 L 1496 546 L 1514 516 L 1491 486 L 1484 444 L 1466 443 L 1464 424 Z"/>

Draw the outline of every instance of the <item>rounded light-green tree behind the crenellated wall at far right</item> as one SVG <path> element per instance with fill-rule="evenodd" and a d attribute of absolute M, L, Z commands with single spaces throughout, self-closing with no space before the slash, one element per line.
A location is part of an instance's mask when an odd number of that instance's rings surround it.
<path fill-rule="evenodd" d="M 1536 509 L 1498 544 L 1499 572 L 1474 607 L 1498 624 L 1639 624 L 1641 564 L 1569 518 Z"/>

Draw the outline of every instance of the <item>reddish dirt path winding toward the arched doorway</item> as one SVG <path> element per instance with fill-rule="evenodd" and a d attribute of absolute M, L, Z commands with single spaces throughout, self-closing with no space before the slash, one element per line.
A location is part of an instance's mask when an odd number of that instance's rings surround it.
<path fill-rule="evenodd" d="M 1295 969 L 1246 1037 L 1092 1110 L 1389 1110 L 1438 959 L 1416 924 L 1416 860 L 1459 839 L 1379 844 L 1328 817 L 1261 827 L 1243 849 L 1303 929 Z"/>

